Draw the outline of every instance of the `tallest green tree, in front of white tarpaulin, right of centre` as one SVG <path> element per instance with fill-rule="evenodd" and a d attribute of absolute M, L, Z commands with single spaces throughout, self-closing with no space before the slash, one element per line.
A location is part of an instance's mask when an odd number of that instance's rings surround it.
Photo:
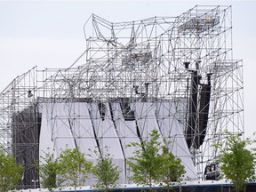
<path fill-rule="evenodd" d="M 131 180 L 140 185 L 149 186 L 152 191 L 153 181 L 159 180 L 160 170 L 163 166 L 162 156 L 159 154 L 161 142 L 160 135 L 156 130 L 149 133 L 149 140 L 140 140 L 132 142 L 127 147 L 137 148 L 132 157 L 127 161 L 130 165 L 133 175 Z"/>

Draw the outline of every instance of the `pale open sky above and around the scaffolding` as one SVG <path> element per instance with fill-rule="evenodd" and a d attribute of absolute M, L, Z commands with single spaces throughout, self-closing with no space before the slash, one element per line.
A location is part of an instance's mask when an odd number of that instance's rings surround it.
<path fill-rule="evenodd" d="M 196 4 L 232 5 L 234 59 L 244 60 L 245 133 L 250 135 L 256 131 L 256 1 L 0 0 L 0 92 L 36 65 L 68 68 L 84 52 L 84 23 L 92 13 L 129 21 L 178 16 Z"/>

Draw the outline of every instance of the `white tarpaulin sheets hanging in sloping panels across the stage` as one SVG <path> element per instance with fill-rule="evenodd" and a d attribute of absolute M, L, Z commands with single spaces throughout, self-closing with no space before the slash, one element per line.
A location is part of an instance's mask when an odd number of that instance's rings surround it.
<path fill-rule="evenodd" d="M 119 183 L 127 183 L 131 173 L 124 160 L 132 156 L 135 148 L 126 148 L 131 142 L 148 138 L 153 129 L 158 130 L 167 140 L 172 141 L 170 150 L 180 157 L 186 168 L 186 176 L 196 178 L 195 166 L 192 162 L 188 146 L 175 118 L 172 102 L 132 102 L 129 108 L 134 119 L 124 118 L 124 108 L 120 103 L 44 103 L 42 108 L 42 124 L 40 133 L 40 156 L 44 152 L 53 152 L 60 156 L 61 149 L 80 148 L 84 154 L 92 155 L 99 147 L 101 153 L 108 153 L 121 170 Z M 122 111 L 123 110 L 123 111 Z M 96 156 L 86 156 L 95 164 Z"/>

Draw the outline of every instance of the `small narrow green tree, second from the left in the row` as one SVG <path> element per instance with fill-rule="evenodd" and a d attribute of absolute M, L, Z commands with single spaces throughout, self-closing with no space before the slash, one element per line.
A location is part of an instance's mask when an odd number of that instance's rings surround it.
<path fill-rule="evenodd" d="M 53 154 L 46 153 L 45 157 L 41 156 L 43 161 L 36 164 L 39 170 L 40 183 L 43 188 L 48 188 L 52 191 L 52 188 L 57 188 L 56 176 L 59 168 L 58 159 L 55 159 Z"/>

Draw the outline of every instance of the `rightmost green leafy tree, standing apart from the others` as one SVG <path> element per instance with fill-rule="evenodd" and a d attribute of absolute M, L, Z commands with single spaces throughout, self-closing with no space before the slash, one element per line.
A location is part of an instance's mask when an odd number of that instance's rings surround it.
<path fill-rule="evenodd" d="M 241 139 L 241 134 L 228 132 L 226 147 L 220 151 L 220 170 L 224 177 L 232 180 L 236 191 L 244 190 L 244 183 L 254 177 L 255 160 L 252 151 L 246 147 L 252 140 Z M 220 145 L 223 147 L 223 144 Z"/>

